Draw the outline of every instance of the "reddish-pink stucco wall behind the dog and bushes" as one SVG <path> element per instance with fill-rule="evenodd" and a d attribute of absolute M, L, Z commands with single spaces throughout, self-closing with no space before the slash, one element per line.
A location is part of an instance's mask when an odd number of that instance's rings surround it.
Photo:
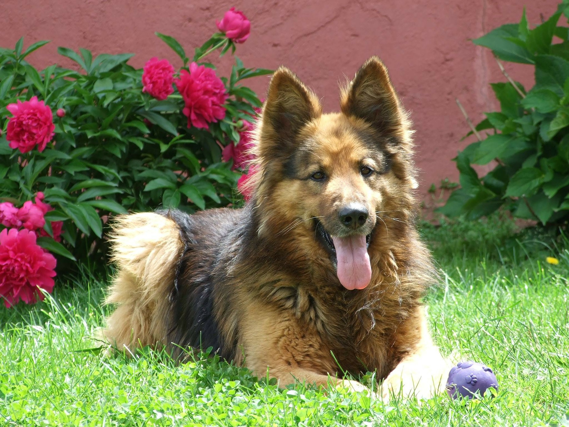
<path fill-rule="evenodd" d="M 413 114 L 421 191 L 443 178 L 457 179 L 451 158 L 466 145 L 468 132 L 458 97 L 473 121 L 495 107 L 488 83 L 504 81 L 489 52 L 476 38 L 504 23 L 518 22 L 526 6 L 530 24 L 548 17 L 557 0 L 3 0 L 0 46 L 52 43 L 30 56 L 38 67 L 58 59 L 57 46 L 85 47 L 95 54 L 134 52 L 141 67 L 151 56 L 179 59 L 155 31 L 175 36 L 193 52 L 216 30 L 231 6 L 251 20 L 251 35 L 237 55 L 245 65 L 295 71 L 323 99 L 338 108 L 338 83 L 352 77 L 369 56 L 380 56 Z M 221 70 L 228 68 L 221 61 Z M 530 85 L 527 65 L 506 65 L 510 75 Z M 268 77 L 250 81 L 262 96 Z M 428 203 L 428 198 L 427 198 Z"/>

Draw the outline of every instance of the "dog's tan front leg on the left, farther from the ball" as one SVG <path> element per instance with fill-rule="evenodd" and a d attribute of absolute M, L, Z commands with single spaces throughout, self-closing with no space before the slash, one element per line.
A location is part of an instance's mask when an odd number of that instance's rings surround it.
<path fill-rule="evenodd" d="M 368 389 L 358 381 L 337 377 L 340 369 L 313 327 L 274 307 L 255 308 L 242 319 L 242 356 L 237 363 L 251 369 L 257 377 L 265 377 L 268 372 L 280 387 L 306 383 L 356 392 Z"/>

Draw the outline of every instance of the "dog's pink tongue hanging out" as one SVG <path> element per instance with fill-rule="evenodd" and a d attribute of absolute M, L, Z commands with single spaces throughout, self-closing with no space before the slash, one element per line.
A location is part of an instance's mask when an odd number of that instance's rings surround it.
<path fill-rule="evenodd" d="M 332 237 L 338 261 L 338 278 L 346 289 L 364 289 L 372 280 L 365 236 Z"/>

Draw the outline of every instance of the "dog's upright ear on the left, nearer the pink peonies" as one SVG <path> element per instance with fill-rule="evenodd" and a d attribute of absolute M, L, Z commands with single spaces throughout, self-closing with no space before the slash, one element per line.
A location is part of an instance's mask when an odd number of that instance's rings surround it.
<path fill-rule="evenodd" d="M 294 149 L 300 128 L 321 114 L 316 95 L 290 69 L 279 67 L 261 114 L 259 154 L 266 157 Z"/>

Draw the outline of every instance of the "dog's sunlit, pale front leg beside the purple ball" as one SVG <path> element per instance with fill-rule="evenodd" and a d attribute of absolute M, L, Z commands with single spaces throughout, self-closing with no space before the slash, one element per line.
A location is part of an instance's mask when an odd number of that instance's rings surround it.
<path fill-rule="evenodd" d="M 401 331 L 398 330 L 395 347 L 405 348 L 405 345 L 409 345 L 406 342 L 417 334 L 418 342 L 381 385 L 380 391 L 384 401 L 389 400 L 392 393 L 404 398 L 430 399 L 444 391 L 448 372 L 452 367 L 452 363 L 443 358 L 439 348 L 432 342 L 424 307 L 420 307 L 417 315 L 406 323 Z"/>

